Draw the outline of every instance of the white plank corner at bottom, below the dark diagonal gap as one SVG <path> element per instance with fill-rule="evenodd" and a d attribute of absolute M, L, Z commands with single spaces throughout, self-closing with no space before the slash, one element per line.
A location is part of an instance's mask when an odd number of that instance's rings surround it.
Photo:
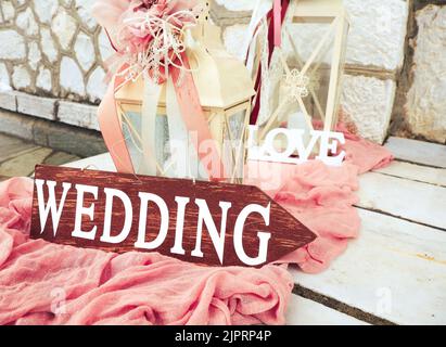
<path fill-rule="evenodd" d="M 288 325 L 369 325 L 322 304 L 292 295 L 286 311 Z"/>

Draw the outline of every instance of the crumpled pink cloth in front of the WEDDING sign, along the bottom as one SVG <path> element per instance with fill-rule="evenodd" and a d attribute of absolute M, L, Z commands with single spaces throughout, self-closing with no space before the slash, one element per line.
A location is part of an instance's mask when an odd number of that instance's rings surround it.
<path fill-rule="evenodd" d="M 33 181 L 0 183 L 0 324 L 283 324 L 286 269 L 207 268 L 29 240 Z"/>

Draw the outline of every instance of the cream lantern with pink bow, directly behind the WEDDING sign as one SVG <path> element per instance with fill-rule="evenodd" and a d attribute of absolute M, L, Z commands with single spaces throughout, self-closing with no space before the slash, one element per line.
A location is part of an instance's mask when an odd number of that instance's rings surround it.
<path fill-rule="evenodd" d="M 207 16 L 207 15 L 206 15 Z M 205 18 L 206 20 L 206 18 Z M 226 179 L 240 182 L 245 163 L 244 142 L 254 86 L 242 62 L 226 52 L 220 29 L 203 21 L 192 29 L 196 44 L 188 50 L 192 77 L 200 104 L 225 166 Z M 137 174 L 145 172 L 144 119 L 142 115 L 143 78 L 126 83 L 115 93 L 123 133 Z M 167 82 L 163 86 L 155 121 L 154 156 L 156 175 L 170 178 L 207 179 L 201 167 L 191 134 L 181 125 L 179 111 L 167 115 Z M 193 136 L 193 134 L 192 134 Z M 175 140 L 179 146 L 171 146 Z M 178 151 L 178 152 L 176 152 Z M 173 153 L 176 152 L 176 153 Z"/>

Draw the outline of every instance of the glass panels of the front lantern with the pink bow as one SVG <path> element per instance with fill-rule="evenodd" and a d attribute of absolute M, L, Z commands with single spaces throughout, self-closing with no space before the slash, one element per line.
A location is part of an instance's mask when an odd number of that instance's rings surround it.
<path fill-rule="evenodd" d="M 250 102 L 242 108 L 232 107 L 205 111 L 213 139 L 217 141 L 221 158 L 227 169 L 227 180 L 238 182 L 244 166 L 244 124 L 250 116 Z M 124 139 L 138 175 L 148 175 L 144 166 L 143 134 L 141 121 L 141 105 L 118 103 Z M 155 119 L 155 153 L 156 175 L 167 178 L 194 178 L 207 180 L 206 170 L 197 158 L 195 138 L 191 133 L 180 133 L 179 138 L 170 139 L 169 119 L 165 110 L 158 107 Z M 178 134 L 177 134 L 178 136 Z M 171 141 L 170 141 L 171 140 Z M 237 176 L 235 179 L 234 175 Z"/>

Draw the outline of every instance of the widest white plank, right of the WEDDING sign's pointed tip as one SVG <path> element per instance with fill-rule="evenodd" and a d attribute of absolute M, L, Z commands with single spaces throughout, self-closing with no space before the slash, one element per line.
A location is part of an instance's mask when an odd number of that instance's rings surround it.
<path fill-rule="evenodd" d="M 359 210 L 362 230 L 329 270 L 300 285 L 398 324 L 446 324 L 446 233 Z"/>

